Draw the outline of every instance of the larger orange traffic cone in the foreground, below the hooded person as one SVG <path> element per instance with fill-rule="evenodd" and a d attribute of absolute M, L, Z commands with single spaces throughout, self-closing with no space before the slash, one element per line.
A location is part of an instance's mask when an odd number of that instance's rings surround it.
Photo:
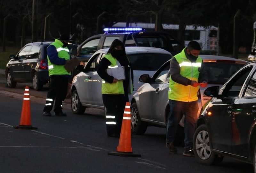
<path fill-rule="evenodd" d="M 132 141 L 131 141 L 131 109 L 130 103 L 126 102 L 124 109 L 124 116 L 122 121 L 121 134 L 119 138 L 119 144 L 117 146 L 116 152 L 109 152 L 109 155 L 118 156 L 131 156 L 140 157 L 140 154 L 132 153 Z"/>

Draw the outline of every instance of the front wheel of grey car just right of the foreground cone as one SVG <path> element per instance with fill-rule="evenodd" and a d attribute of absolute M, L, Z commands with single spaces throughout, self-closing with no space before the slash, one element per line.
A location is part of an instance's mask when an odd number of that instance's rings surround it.
<path fill-rule="evenodd" d="M 131 105 L 131 116 L 132 134 L 144 134 L 147 130 L 148 123 L 140 120 L 140 114 L 136 103 L 132 103 Z"/>

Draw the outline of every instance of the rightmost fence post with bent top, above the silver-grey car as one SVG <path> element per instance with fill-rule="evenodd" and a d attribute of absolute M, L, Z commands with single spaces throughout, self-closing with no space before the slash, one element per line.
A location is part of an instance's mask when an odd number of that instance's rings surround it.
<path fill-rule="evenodd" d="M 240 16 L 240 10 L 237 10 L 234 16 L 234 29 L 233 29 L 233 57 L 238 58 L 238 36 L 237 33 L 239 31 L 237 19 Z"/>

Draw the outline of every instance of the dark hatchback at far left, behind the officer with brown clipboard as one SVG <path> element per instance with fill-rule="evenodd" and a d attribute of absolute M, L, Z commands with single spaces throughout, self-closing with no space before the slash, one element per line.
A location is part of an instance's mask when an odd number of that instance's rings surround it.
<path fill-rule="evenodd" d="M 33 82 L 35 90 L 41 90 L 48 82 L 48 63 L 46 48 L 51 42 L 31 42 L 17 55 L 10 55 L 6 65 L 6 85 L 16 87 L 17 82 Z"/>

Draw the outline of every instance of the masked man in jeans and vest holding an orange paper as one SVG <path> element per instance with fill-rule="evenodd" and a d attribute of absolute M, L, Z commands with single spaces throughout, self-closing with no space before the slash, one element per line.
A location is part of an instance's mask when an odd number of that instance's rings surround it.
<path fill-rule="evenodd" d="M 201 47 L 198 42 L 190 41 L 179 54 L 173 56 L 170 66 L 169 105 L 166 131 L 166 147 L 171 154 L 177 154 L 173 142 L 180 119 L 185 116 L 185 150 L 183 155 L 194 156 L 193 135 L 196 129 L 198 112 L 197 92 L 199 86 L 206 87 L 208 75 L 203 69 L 203 60 L 199 56 Z"/>

